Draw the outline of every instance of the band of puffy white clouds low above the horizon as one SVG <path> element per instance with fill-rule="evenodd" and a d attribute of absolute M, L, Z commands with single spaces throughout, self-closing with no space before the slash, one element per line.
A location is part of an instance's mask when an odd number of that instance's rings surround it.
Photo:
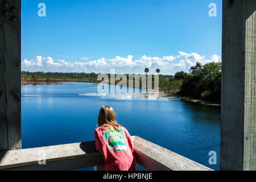
<path fill-rule="evenodd" d="M 87 57 L 86 57 L 87 59 Z M 86 60 L 84 58 L 84 60 Z M 110 68 L 117 69 L 117 73 L 143 73 L 144 68 L 149 68 L 150 73 L 155 73 L 156 68 L 163 74 L 175 74 L 178 71 L 188 71 L 191 66 L 199 61 L 202 64 L 212 61 L 220 61 L 220 56 L 212 55 L 209 60 L 205 56 L 197 53 L 179 52 L 177 56 L 148 57 L 142 56 L 135 60 L 133 56 L 116 56 L 113 59 L 101 58 L 98 60 L 79 62 L 68 62 L 65 60 L 53 60 L 52 57 L 36 56 L 35 59 L 22 61 L 22 70 L 24 71 L 44 71 L 44 72 L 97 72 L 109 73 Z"/>

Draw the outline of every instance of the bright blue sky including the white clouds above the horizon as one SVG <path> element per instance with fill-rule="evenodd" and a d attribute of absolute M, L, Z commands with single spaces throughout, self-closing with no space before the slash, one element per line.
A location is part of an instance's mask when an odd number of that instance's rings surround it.
<path fill-rule="evenodd" d="M 221 60 L 221 9 L 220 0 L 23 0 L 22 70 L 188 71 L 196 61 Z"/>

